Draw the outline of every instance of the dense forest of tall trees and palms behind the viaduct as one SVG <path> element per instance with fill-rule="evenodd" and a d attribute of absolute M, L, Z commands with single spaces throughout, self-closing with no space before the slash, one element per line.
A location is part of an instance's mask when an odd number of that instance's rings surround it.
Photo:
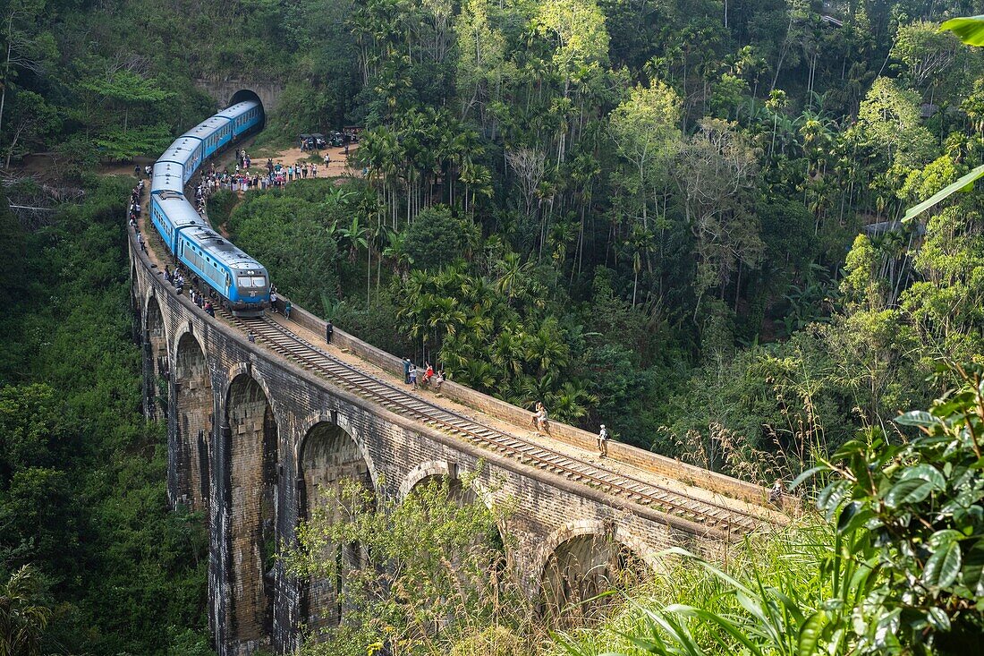
<path fill-rule="evenodd" d="M 984 59 L 933 23 L 962 7 L 4 7 L 15 155 L 153 154 L 207 113 L 197 77 L 283 82 L 268 145 L 364 125 L 367 184 L 226 198 L 217 223 L 297 302 L 560 419 L 733 472 L 734 434 L 795 471 L 801 426 L 834 448 L 927 403 L 939 352 L 979 353 L 979 324 L 939 323 L 976 306 L 938 256 L 974 258 L 975 197 L 931 251 L 892 223 L 979 162 Z M 65 118 L 21 130 L 22 102 Z M 724 403 L 695 402 L 708 383 Z"/>

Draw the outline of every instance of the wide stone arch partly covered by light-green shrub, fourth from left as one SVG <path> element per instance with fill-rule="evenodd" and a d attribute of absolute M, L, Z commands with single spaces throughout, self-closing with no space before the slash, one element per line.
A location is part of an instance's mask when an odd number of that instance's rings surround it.
<path fill-rule="evenodd" d="M 370 463 L 355 438 L 337 422 L 316 422 L 304 434 L 297 459 L 298 515 L 310 518 L 321 507 L 321 492 L 338 491 L 343 481 L 353 481 L 375 494 Z M 371 510 L 371 508 L 364 508 Z M 330 521 L 336 519 L 335 513 Z M 338 601 L 338 592 L 344 588 L 346 571 L 362 567 L 365 554 L 358 543 L 333 545 L 324 558 L 334 558 L 338 572 L 334 580 L 312 578 L 303 586 L 301 613 L 308 627 L 314 631 L 338 626 L 344 609 Z"/>

